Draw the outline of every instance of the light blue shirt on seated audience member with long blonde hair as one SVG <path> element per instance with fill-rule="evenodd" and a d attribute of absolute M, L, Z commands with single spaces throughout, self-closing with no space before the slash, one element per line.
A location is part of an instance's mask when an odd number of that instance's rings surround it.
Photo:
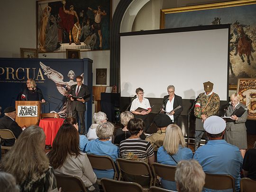
<path fill-rule="evenodd" d="M 179 162 L 180 160 L 189 160 L 193 158 L 193 152 L 191 149 L 179 146 L 179 150 L 176 154 L 172 155 L 175 161 Z M 161 146 L 157 150 L 157 162 L 170 165 L 170 166 L 177 166 L 177 163 L 174 161 L 170 154 L 167 153 L 164 146 Z M 161 179 L 161 183 L 164 189 L 177 191 L 176 184 L 173 181 L 168 181 L 165 179 Z"/>

